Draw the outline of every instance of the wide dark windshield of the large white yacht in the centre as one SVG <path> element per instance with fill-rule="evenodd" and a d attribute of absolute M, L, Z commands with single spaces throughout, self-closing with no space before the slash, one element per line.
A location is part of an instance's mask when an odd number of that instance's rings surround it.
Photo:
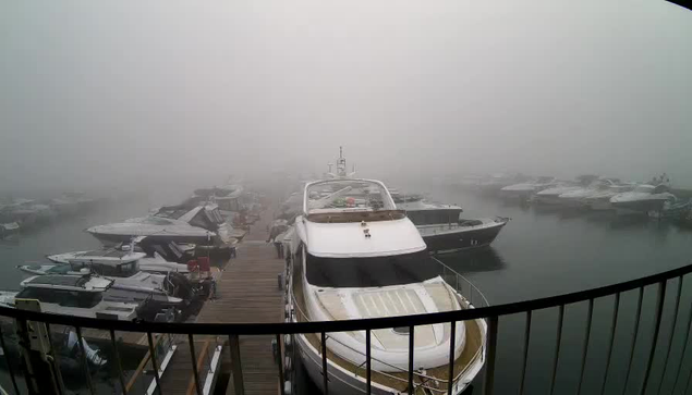
<path fill-rule="evenodd" d="M 307 282 L 335 288 L 420 283 L 439 275 L 427 250 L 372 258 L 321 258 L 307 255 Z"/>

